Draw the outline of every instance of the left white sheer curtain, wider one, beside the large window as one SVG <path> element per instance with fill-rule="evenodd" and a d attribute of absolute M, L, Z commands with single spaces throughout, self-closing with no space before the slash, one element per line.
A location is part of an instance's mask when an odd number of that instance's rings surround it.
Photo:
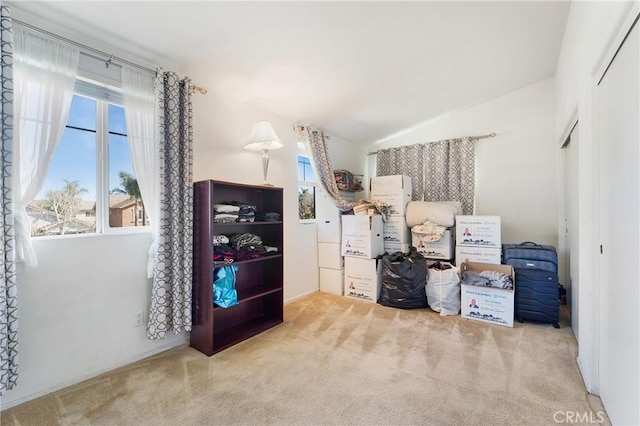
<path fill-rule="evenodd" d="M 38 265 L 26 207 L 42 188 L 62 137 L 78 73 L 79 49 L 14 27 L 14 209 L 16 254 Z"/>

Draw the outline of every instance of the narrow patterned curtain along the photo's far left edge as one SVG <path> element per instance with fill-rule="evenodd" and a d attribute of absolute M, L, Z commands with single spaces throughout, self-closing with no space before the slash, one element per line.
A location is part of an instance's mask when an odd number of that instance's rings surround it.
<path fill-rule="evenodd" d="M 18 380 L 18 307 L 12 194 L 13 33 L 11 14 L 0 6 L 0 397 Z"/>

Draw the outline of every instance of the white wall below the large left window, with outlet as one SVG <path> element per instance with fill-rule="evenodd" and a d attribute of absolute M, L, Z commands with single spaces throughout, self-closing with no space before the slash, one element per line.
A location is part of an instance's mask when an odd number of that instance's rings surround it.
<path fill-rule="evenodd" d="M 150 341 L 134 327 L 148 317 L 149 233 L 35 239 L 37 269 L 19 267 L 18 385 L 2 408 L 185 343 Z"/>

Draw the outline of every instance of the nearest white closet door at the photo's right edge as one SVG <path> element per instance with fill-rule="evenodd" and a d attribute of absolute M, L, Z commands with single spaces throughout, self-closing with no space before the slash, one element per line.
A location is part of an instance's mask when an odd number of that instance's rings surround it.
<path fill-rule="evenodd" d="M 636 21 L 597 87 L 599 393 L 613 424 L 635 425 L 640 424 L 639 49 Z"/>

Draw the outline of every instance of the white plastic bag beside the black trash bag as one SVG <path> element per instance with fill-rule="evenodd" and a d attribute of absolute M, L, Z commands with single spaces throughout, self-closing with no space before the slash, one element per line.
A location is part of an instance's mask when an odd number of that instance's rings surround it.
<path fill-rule="evenodd" d="M 429 307 L 441 316 L 460 313 L 460 275 L 458 268 L 427 270 L 425 287 Z"/>

